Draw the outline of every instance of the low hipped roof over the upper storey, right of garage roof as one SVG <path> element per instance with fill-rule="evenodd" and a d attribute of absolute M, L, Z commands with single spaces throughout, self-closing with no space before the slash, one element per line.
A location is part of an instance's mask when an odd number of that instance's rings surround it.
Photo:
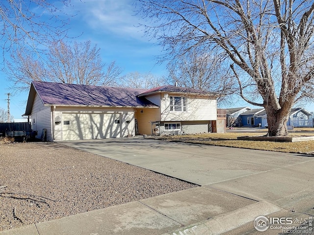
<path fill-rule="evenodd" d="M 211 94 L 206 91 L 197 90 L 194 88 L 187 88 L 187 87 L 176 87 L 171 85 L 164 85 L 161 87 L 156 87 L 147 91 L 144 91 L 143 93 L 139 94 L 138 96 L 145 96 L 149 94 L 156 94 L 156 93 L 162 93 L 162 92 L 173 92 L 173 93 L 188 93 L 188 94 L 203 94 L 203 95 L 212 95 L 212 96 L 220 96 L 219 94 Z"/>

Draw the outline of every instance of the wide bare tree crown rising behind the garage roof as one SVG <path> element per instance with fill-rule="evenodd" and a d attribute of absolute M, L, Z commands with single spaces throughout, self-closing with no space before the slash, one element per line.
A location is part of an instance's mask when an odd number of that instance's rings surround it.
<path fill-rule="evenodd" d="M 15 63 L 8 62 L 6 70 L 14 90 L 28 89 L 33 80 L 105 86 L 115 84 L 122 72 L 115 62 L 106 66 L 100 48 L 92 47 L 90 41 L 74 42 L 73 47 L 59 41 L 49 52 L 43 62 L 18 51 Z"/>

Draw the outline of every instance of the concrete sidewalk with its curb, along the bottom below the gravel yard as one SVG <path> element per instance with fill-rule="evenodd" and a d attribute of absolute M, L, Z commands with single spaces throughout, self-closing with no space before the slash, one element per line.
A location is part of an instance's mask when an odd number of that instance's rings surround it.
<path fill-rule="evenodd" d="M 169 231 L 180 234 L 187 229 L 198 235 L 221 234 L 261 214 L 280 210 L 266 202 L 198 187 L 11 229 L 0 235 L 161 235 Z"/>

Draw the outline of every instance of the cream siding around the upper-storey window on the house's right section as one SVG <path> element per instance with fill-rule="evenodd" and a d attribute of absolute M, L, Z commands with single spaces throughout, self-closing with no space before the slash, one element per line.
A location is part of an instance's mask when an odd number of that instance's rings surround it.
<path fill-rule="evenodd" d="M 216 99 L 187 96 L 186 101 L 186 112 L 175 112 L 170 111 L 169 97 L 161 100 L 161 121 L 202 121 L 217 119 Z"/>

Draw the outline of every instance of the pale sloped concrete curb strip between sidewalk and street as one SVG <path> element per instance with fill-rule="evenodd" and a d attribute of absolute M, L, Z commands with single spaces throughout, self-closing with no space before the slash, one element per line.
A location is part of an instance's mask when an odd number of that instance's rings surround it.
<path fill-rule="evenodd" d="M 281 210 L 278 206 L 261 201 L 163 235 L 218 235 L 253 222 L 260 215 L 266 216 Z"/>

